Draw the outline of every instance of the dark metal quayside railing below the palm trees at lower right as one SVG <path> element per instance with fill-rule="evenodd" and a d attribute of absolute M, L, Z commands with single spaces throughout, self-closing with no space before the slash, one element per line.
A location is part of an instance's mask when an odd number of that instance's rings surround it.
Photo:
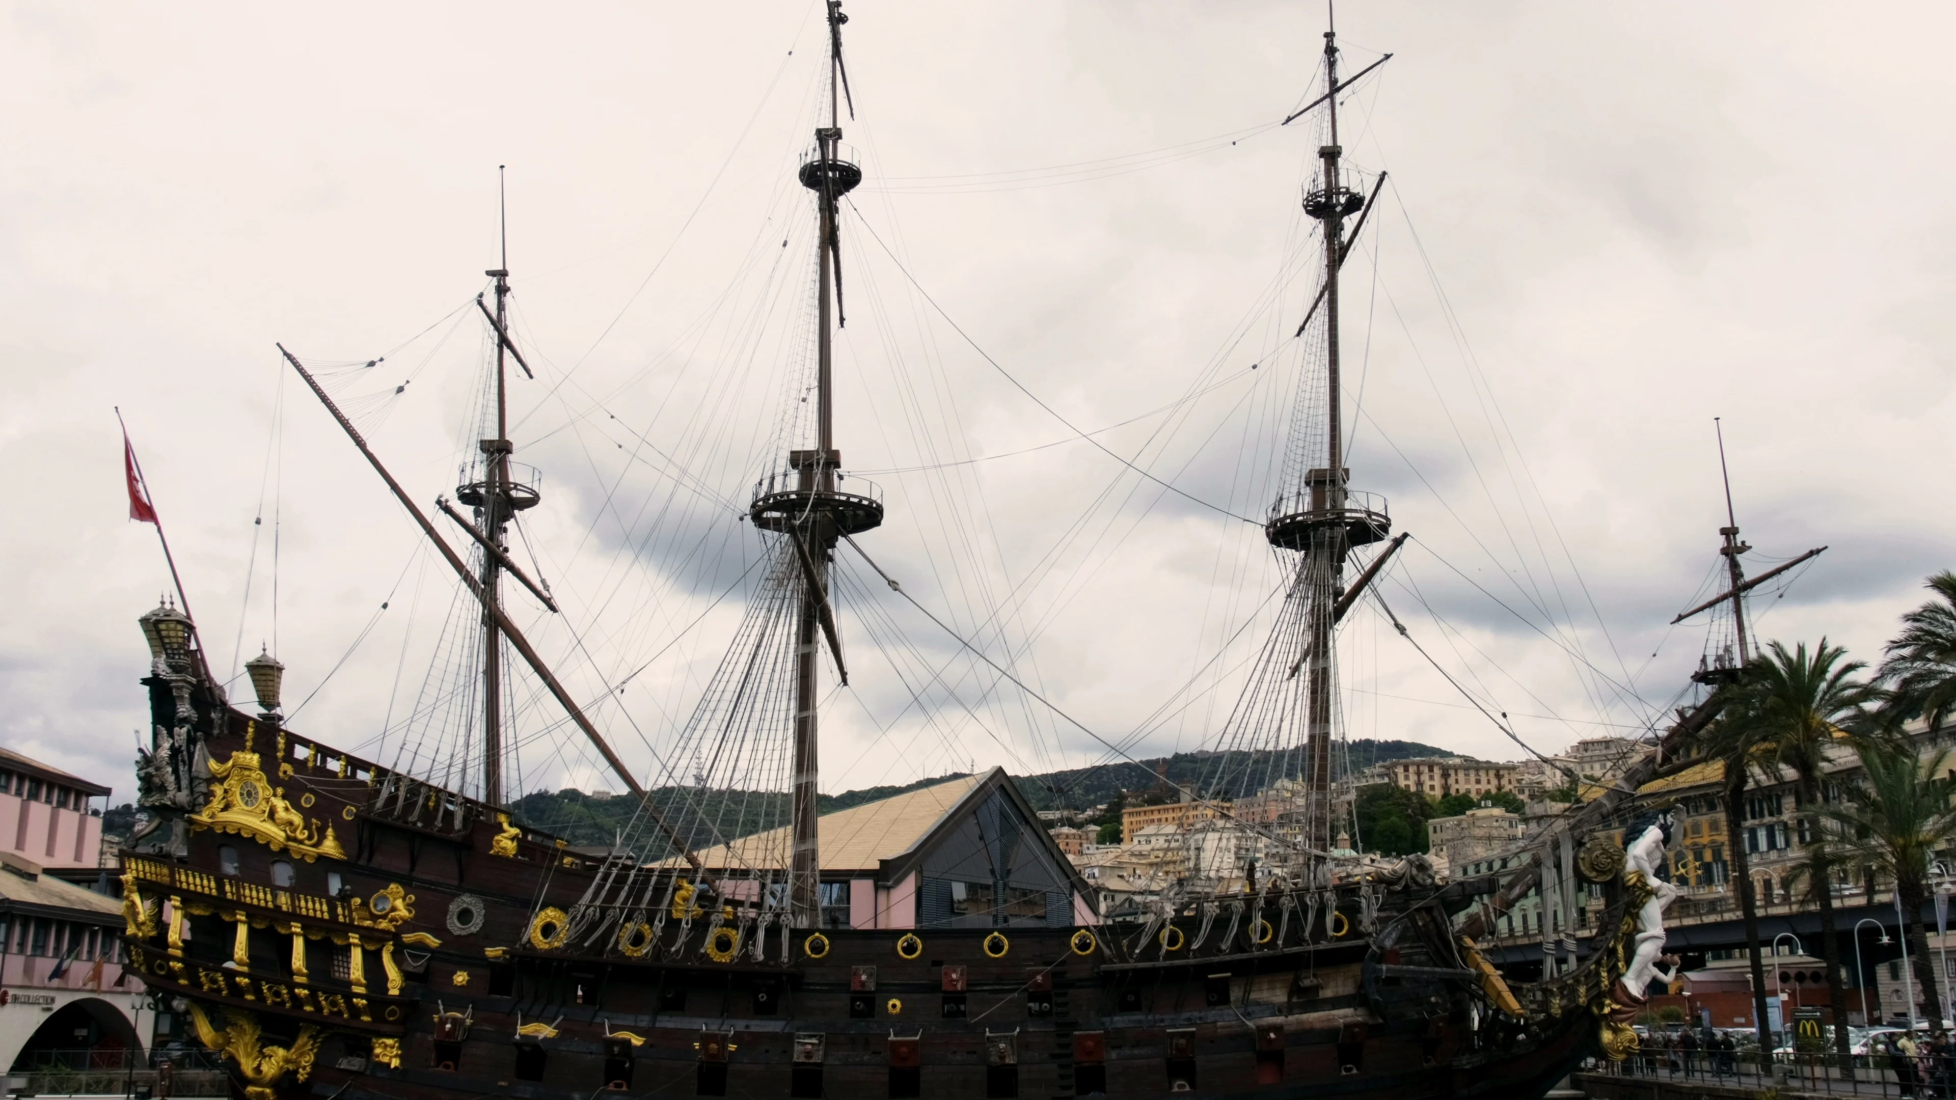
<path fill-rule="evenodd" d="M 1739 1033 L 1739 1028 L 1731 1028 Z M 1747 1031 L 1756 1035 L 1756 1031 Z M 1929 1033 L 1921 1031 L 1927 1041 Z M 1895 1057 L 1778 1051 L 1770 1059 L 1758 1047 L 1743 1051 L 1674 1051 L 1668 1047 L 1637 1049 L 1627 1059 L 1612 1063 L 1592 1059 L 1578 1075 L 1670 1084 L 1680 1092 L 1702 1088 L 1733 1088 L 1749 1094 L 1778 1090 L 1778 1094 L 1809 1096 L 1956 1096 L 1956 1057 L 1925 1059 L 1931 1071 L 1917 1071 L 1911 1080 L 1895 1073 Z M 1938 1063 L 1940 1065 L 1934 1065 Z M 1923 1065 L 1923 1061 L 1917 1061 Z M 1580 1080 L 1575 1084 L 1580 1086 Z"/>

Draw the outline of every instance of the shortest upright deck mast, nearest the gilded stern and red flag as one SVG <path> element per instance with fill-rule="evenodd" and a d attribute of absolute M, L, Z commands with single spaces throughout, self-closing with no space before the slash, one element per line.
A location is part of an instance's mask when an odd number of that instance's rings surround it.
<path fill-rule="evenodd" d="M 495 435 L 479 440 L 483 454 L 481 481 L 456 487 L 456 499 L 475 509 L 475 528 L 495 550 L 509 554 L 509 521 L 520 509 L 534 507 L 538 493 L 511 478 L 509 456 L 509 200 L 503 184 L 503 164 L 497 164 L 497 217 L 503 243 L 503 264 L 483 274 L 495 278 Z M 501 806 L 503 791 L 503 630 L 497 611 L 503 607 L 503 556 L 481 548 L 477 579 L 483 591 L 483 802 Z"/>

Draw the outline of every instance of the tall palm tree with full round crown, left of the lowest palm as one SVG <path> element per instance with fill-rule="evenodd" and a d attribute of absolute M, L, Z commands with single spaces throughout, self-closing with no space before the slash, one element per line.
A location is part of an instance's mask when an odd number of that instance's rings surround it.
<path fill-rule="evenodd" d="M 1813 812 L 1823 804 L 1827 756 L 1839 744 L 1841 728 L 1858 726 L 1878 697 L 1870 683 L 1854 675 L 1866 665 L 1845 658 L 1846 650 L 1829 646 L 1827 638 L 1821 638 L 1811 654 L 1805 642 L 1792 652 L 1780 642 L 1768 642 L 1766 652 L 1747 667 L 1735 712 L 1735 720 L 1755 726 L 1762 750 L 1760 763 L 1774 773 L 1794 773 L 1805 826 L 1801 828 L 1803 871 L 1821 910 L 1821 961 L 1827 967 L 1827 996 L 1835 1018 L 1835 1053 L 1843 1063 L 1848 1053 L 1846 988 L 1841 985 L 1831 857 L 1819 830 L 1813 828 Z"/>

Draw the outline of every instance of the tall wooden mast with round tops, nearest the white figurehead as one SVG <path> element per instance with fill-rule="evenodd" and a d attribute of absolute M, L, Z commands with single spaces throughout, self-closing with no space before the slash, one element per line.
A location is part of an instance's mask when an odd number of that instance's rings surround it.
<path fill-rule="evenodd" d="M 1344 425 L 1340 397 L 1338 346 L 1338 268 L 1348 249 L 1344 221 L 1365 207 L 1363 192 L 1346 184 L 1338 145 L 1338 37 L 1336 27 L 1324 31 L 1324 96 L 1328 141 L 1318 147 L 1318 178 L 1305 192 L 1305 213 L 1318 219 L 1324 237 L 1324 464 L 1311 466 L 1303 485 L 1287 491 L 1271 509 L 1264 534 L 1271 546 L 1303 550 L 1297 593 L 1309 601 L 1305 615 L 1305 828 L 1307 848 L 1332 846 L 1332 712 L 1336 705 L 1334 628 L 1338 597 L 1344 589 L 1344 562 L 1354 546 L 1365 546 L 1387 536 L 1391 521 L 1385 501 L 1359 493 L 1348 483 L 1352 472 L 1344 464 Z M 1303 395 L 1301 399 L 1311 399 Z M 1307 456 L 1314 458 L 1314 456 Z"/>

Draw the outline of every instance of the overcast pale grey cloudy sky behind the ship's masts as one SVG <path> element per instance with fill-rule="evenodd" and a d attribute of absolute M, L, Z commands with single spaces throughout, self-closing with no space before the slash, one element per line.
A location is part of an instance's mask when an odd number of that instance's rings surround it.
<path fill-rule="evenodd" d="M 540 368 L 511 384 L 512 438 L 546 497 L 518 556 L 565 615 L 512 605 L 585 699 L 645 667 L 595 712 L 651 767 L 734 636 L 759 554 L 735 515 L 800 411 L 820 12 L 8 6 L 0 740 L 131 795 L 135 619 L 168 575 L 125 519 L 115 405 L 213 665 L 276 646 L 288 710 L 319 689 L 293 724 L 329 744 L 434 736 L 379 730 L 456 589 L 274 341 L 327 368 L 422 505 L 452 493 L 509 164 Z M 861 542 L 1107 742 L 1199 748 L 1281 581 L 1242 519 L 1303 378 L 1285 337 L 1316 288 L 1297 200 L 1320 133 L 1269 123 L 1311 98 L 1324 14 L 847 12 L 867 182 L 839 446 L 890 505 Z M 1412 638 L 1537 750 L 1651 720 L 1706 644 L 1667 622 L 1715 591 L 1723 417 L 1749 568 L 1831 546 L 1755 605 L 1760 636 L 1878 660 L 1952 564 L 1956 16 L 1338 20 L 1348 72 L 1395 55 L 1342 108 L 1348 159 L 1391 174 L 1346 268 L 1344 415 L 1354 487 L 1414 532 L 1381 589 Z M 1107 450 L 1072 429 L 1111 429 Z M 1109 757 L 843 558 L 823 789 Z M 1352 736 L 1522 754 L 1375 607 L 1342 662 Z M 554 720 L 518 716 L 522 787 L 616 789 Z"/>

